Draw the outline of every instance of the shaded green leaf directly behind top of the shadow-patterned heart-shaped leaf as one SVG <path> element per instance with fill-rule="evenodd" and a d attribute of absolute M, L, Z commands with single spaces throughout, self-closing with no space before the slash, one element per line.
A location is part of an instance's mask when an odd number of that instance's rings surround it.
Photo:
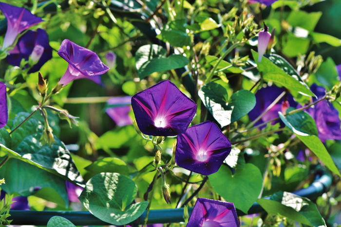
<path fill-rule="evenodd" d="M 99 173 L 118 173 L 121 175 L 129 175 L 127 164 L 116 157 L 104 157 L 96 160 L 85 169 L 88 171 L 86 175 L 86 178 L 88 179 Z"/>

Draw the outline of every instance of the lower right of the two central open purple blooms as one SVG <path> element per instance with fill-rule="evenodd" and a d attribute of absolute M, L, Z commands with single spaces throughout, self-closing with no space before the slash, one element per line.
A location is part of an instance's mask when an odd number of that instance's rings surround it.
<path fill-rule="evenodd" d="M 231 142 L 213 122 L 202 122 L 178 135 L 175 162 L 202 175 L 217 172 L 231 151 Z"/>

